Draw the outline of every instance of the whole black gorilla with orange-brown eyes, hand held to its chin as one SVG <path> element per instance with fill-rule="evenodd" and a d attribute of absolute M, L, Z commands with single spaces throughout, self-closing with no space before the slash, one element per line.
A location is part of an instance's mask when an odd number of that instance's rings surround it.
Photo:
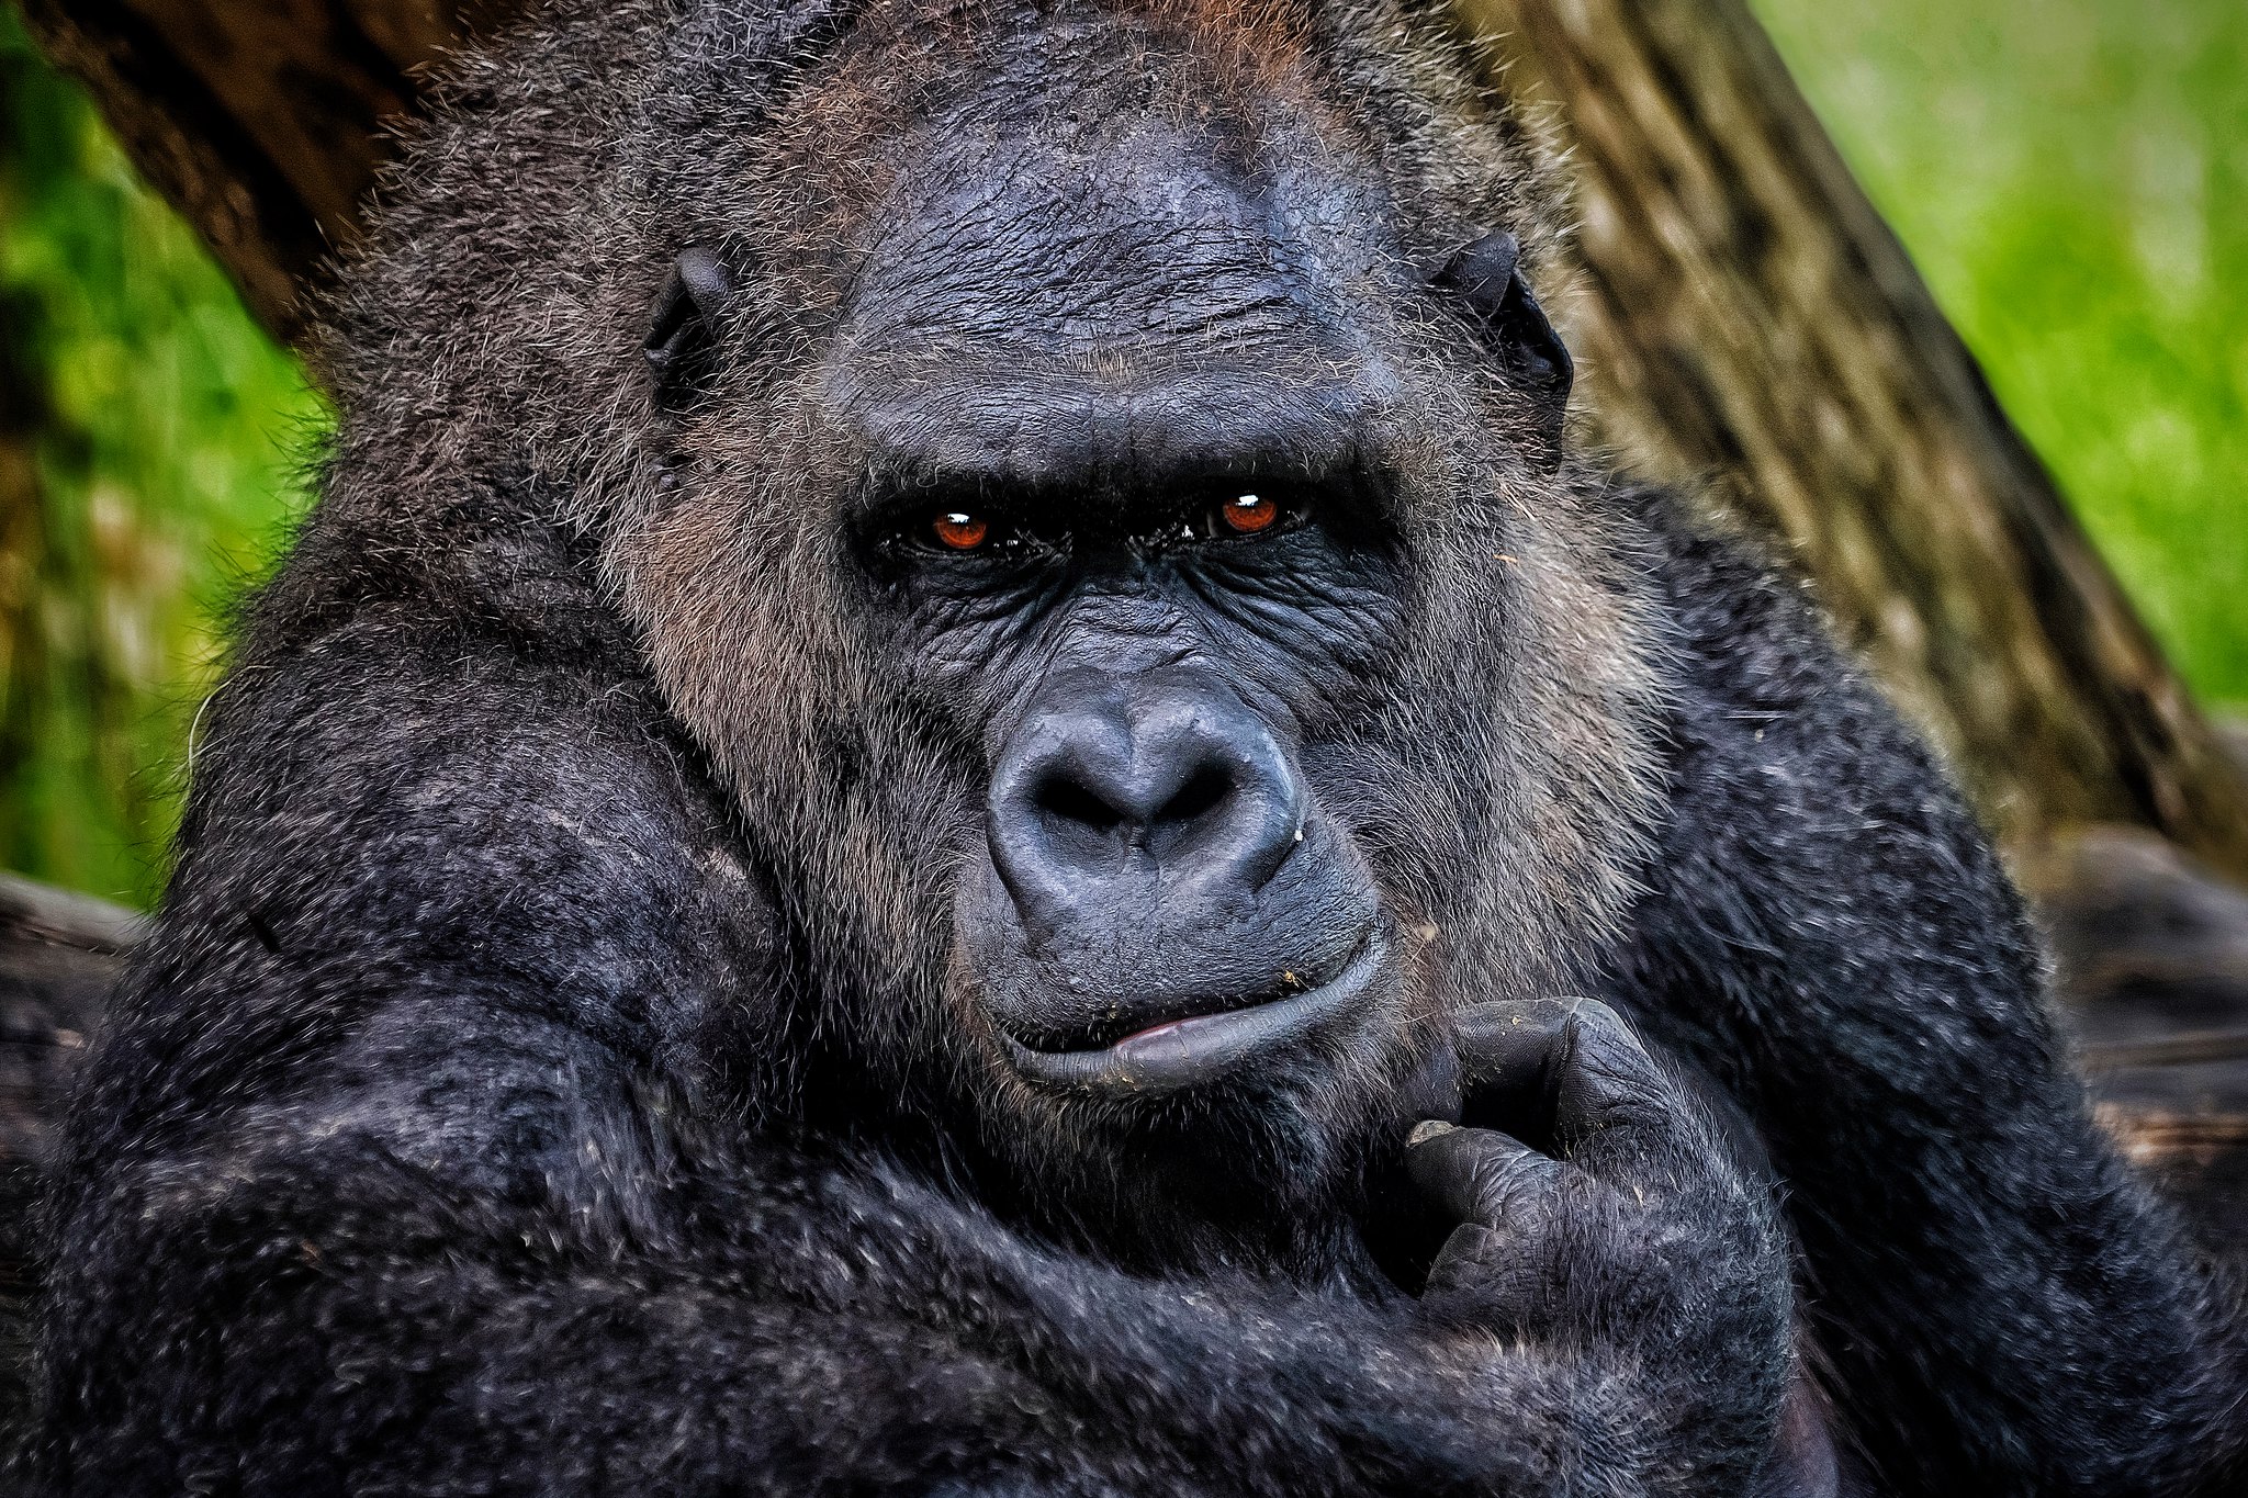
<path fill-rule="evenodd" d="M 560 0 L 76 1098 L 58 1494 L 2136 1494 L 2221 1289 L 1405 0 Z M 1650 234 L 1657 227 L 1648 227 Z"/>

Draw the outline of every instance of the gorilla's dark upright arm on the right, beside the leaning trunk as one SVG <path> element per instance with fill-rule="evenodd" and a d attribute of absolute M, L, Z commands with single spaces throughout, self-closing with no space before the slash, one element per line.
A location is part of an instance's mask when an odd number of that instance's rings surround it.
<path fill-rule="evenodd" d="M 1994 851 L 1794 584 L 1641 503 L 1682 638 L 1621 1002 L 1765 1136 L 1841 1419 L 1913 1494 L 2237 1480 L 2230 1307 L 2093 1125 Z"/>

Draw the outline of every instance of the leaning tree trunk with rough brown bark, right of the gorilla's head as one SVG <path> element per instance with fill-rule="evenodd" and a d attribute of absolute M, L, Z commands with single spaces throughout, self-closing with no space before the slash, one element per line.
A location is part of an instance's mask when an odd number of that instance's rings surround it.
<path fill-rule="evenodd" d="M 1742 0 L 1454 0 L 1574 146 L 1601 436 L 1776 532 L 2019 849 L 2248 876 L 2248 779 Z"/>

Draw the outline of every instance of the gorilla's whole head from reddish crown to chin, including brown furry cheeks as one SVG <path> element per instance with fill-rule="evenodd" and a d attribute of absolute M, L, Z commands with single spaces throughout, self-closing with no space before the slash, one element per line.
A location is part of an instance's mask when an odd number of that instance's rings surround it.
<path fill-rule="evenodd" d="M 1558 348 L 1520 373 L 1506 204 L 1407 216 L 1333 43 L 1000 16 L 942 63 L 863 18 L 794 157 L 719 148 L 715 198 L 877 168 L 744 200 L 735 238 L 850 249 L 731 256 L 677 496 L 611 559 L 874 1091 L 1079 1177 L 1331 1177 L 1416 1017 L 1553 993 L 1619 903 L 1628 588 L 1556 472 Z"/>

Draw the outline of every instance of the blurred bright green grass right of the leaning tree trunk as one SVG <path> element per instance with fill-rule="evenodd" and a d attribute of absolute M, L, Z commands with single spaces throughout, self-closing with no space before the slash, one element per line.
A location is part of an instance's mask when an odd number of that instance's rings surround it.
<path fill-rule="evenodd" d="M 2248 705 L 2248 2 L 1751 9 L 2178 669 Z"/>

